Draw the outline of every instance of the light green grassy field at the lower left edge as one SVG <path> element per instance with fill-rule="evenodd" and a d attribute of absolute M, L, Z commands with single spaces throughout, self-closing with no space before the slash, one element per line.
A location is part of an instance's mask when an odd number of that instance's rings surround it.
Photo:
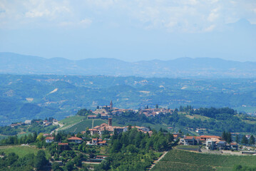
<path fill-rule="evenodd" d="M 16 155 L 19 155 L 19 157 L 24 157 L 24 155 L 36 153 L 40 149 L 33 147 L 33 146 L 21 146 L 21 145 L 10 145 L 10 146 L 0 146 L 0 152 L 5 152 L 6 154 L 9 154 L 11 152 L 15 152 Z M 51 155 L 47 150 L 44 150 L 46 152 L 46 157 L 49 158 Z"/>

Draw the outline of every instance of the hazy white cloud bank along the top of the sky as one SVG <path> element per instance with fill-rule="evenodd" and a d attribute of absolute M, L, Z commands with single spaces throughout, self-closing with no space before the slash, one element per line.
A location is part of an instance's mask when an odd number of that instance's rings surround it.
<path fill-rule="evenodd" d="M 254 0 L 1 0 L 0 28 L 84 28 L 93 19 L 93 24 L 105 26 L 123 22 L 146 29 L 201 32 L 242 18 L 256 21 L 255 13 Z"/>

